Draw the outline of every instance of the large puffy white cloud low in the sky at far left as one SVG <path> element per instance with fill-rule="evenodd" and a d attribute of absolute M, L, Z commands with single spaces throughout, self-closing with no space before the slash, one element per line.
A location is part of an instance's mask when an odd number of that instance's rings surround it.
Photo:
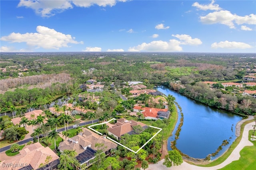
<path fill-rule="evenodd" d="M 48 27 L 39 25 L 36 27 L 36 31 L 38 33 L 10 33 L 8 36 L 1 37 L 1 40 L 10 41 L 11 43 L 25 42 L 31 47 L 35 46 L 36 48 L 44 49 L 59 49 L 62 47 L 69 47 L 68 43 L 83 43 L 82 41 L 75 41 L 75 37 L 71 37 L 71 35 L 65 35 Z"/>

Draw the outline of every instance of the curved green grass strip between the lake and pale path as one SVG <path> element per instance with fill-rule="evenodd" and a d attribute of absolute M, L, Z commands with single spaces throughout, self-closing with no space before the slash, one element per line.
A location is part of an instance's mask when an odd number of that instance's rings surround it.
<path fill-rule="evenodd" d="M 252 122 L 253 120 L 250 121 L 246 121 L 241 125 L 241 132 L 244 131 L 244 126 L 250 122 Z M 242 133 L 241 133 L 242 134 Z M 218 164 L 221 164 L 222 162 L 224 162 L 224 160 L 226 160 L 228 158 L 228 156 L 233 152 L 233 150 L 237 147 L 237 145 L 240 143 L 242 139 L 242 135 L 240 135 L 240 137 L 236 138 L 236 140 L 232 143 L 232 145 L 230 146 L 230 148 L 227 150 L 227 152 L 225 152 L 222 156 L 220 156 L 219 158 L 217 158 L 216 160 L 214 160 L 213 162 L 211 162 L 210 164 L 207 165 L 196 165 L 196 166 L 203 166 L 203 167 L 210 167 L 210 166 L 216 166 Z M 255 147 L 255 146 L 252 146 Z M 249 156 L 255 155 L 254 154 L 249 154 Z M 191 162 L 188 162 L 190 164 L 193 164 Z"/>

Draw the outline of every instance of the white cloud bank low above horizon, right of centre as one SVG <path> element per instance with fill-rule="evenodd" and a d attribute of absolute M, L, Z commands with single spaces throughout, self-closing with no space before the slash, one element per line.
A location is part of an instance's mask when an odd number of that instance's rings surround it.
<path fill-rule="evenodd" d="M 169 41 L 152 41 L 150 43 L 142 43 L 137 45 L 136 47 L 130 47 L 128 51 L 182 51 L 182 47 L 180 45 L 200 45 L 202 41 L 198 38 L 192 39 L 189 35 L 172 35 L 180 39 L 180 41 L 176 39 L 170 39 Z"/>

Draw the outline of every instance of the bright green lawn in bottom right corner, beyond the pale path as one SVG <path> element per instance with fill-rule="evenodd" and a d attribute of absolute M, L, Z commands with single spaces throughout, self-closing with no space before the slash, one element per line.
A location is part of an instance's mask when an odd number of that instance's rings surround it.
<path fill-rule="evenodd" d="M 250 136 L 252 135 L 253 130 L 249 131 L 248 139 L 250 140 Z M 256 169 L 256 141 L 251 141 L 253 143 L 253 146 L 247 146 L 244 147 L 240 151 L 241 157 L 239 160 L 235 160 L 225 166 L 224 168 L 221 168 L 221 170 L 255 170 Z"/>

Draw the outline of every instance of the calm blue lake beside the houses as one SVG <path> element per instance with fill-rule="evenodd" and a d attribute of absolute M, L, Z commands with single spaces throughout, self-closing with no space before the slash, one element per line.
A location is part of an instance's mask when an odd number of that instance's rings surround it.
<path fill-rule="evenodd" d="M 158 87 L 157 90 L 166 96 L 168 94 L 174 96 L 182 108 L 184 122 L 176 147 L 184 154 L 193 158 L 205 158 L 208 154 L 215 152 L 222 141 L 228 140 L 229 144 L 222 147 L 223 149 L 219 154 L 212 158 L 215 159 L 225 152 L 236 139 L 236 123 L 242 117 L 221 109 L 208 107 L 163 86 Z M 172 137 L 168 139 L 168 150 L 171 150 L 170 141 L 174 141 L 176 129 L 174 129 Z"/>

